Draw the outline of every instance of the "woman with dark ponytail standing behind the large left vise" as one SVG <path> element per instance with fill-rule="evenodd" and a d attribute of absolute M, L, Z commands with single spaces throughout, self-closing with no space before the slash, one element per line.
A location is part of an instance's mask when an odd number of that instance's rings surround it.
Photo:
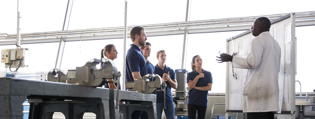
<path fill-rule="evenodd" d="M 104 58 L 104 56 L 107 58 L 107 59 L 111 59 L 114 61 L 114 59 L 117 58 L 117 49 L 116 49 L 116 46 L 113 45 L 113 44 L 108 44 L 105 46 L 104 49 L 102 49 L 101 51 L 101 59 Z M 106 68 L 106 64 L 105 63 L 101 63 L 101 69 L 105 69 Z M 117 73 L 117 71 L 116 71 Z M 107 81 L 113 81 L 113 79 L 107 79 Z M 109 89 L 117 89 L 117 83 L 106 83 L 104 85 L 106 88 L 109 88 Z M 120 88 L 120 86 L 119 86 Z"/>

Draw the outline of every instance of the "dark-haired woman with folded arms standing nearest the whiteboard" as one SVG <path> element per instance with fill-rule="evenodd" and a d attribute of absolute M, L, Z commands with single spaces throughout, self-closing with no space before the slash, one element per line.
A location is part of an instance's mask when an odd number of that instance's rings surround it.
<path fill-rule="evenodd" d="M 188 119 L 195 119 L 197 111 L 198 119 L 204 119 L 208 106 L 208 91 L 211 91 L 212 87 L 212 75 L 202 68 L 202 59 L 199 55 L 192 58 L 192 70 L 187 74 Z"/>

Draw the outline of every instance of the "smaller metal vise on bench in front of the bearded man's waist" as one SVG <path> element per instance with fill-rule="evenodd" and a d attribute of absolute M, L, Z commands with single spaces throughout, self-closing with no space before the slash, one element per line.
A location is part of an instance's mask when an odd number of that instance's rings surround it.
<path fill-rule="evenodd" d="M 155 81 L 146 81 L 147 79 L 151 79 L 152 77 L 155 78 Z M 162 84 L 162 78 L 157 74 L 146 74 L 140 80 L 135 81 L 127 81 L 126 88 L 127 91 L 135 91 L 140 93 L 152 94 L 156 90 L 156 88 L 166 87 L 166 84 Z M 163 90 L 160 90 L 163 91 Z"/>

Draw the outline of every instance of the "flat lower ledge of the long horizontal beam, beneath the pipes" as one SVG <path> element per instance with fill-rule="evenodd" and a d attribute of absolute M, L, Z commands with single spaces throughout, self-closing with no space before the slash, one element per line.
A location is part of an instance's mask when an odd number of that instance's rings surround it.
<path fill-rule="evenodd" d="M 296 26 L 311 26 L 315 25 L 315 19 L 296 21 Z M 237 25 L 237 26 L 223 26 L 223 27 L 208 27 L 208 28 L 188 28 L 188 34 L 197 33 L 213 33 L 213 32 L 226 32 L 226 31 L 240 31 L 249 30 L 252 24 L 247 25 Z M 173 29 L 173 30 L 163 30 L 163 31 L 146 31 L 148 37 L 152 36 L 163 36 L 163 35 L 177 35 L 184 34 L 184 29 Z M 129 36 L 129 34 L 128 34 Z M 86 35 L 81 37 L 83 40 L 100 40 L 100 39 L 123 39 L 123 33 L 119 34 L 105 34 L 105 35 Z M 63 37 L 64 41 L 79 41 L 80 36 L 73 37 Z M 21 40 L 21 44 L 36 44 L 36 43 L 54 43 L 60 42 L 60 37 L 54 38 L 40 38 L 40 39 L 24 39 Z M 0 41 L 0 45 L 15 45 L 16 40 L 4 40 Z"/>

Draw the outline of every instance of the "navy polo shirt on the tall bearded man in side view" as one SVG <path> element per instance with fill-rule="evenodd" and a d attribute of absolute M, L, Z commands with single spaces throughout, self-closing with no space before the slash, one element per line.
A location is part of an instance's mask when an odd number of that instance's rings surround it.
<path fill-rule="evenodd" d="M 135 81 L 132 72 L 139 71 L 141 77 L 147 74 L 146 59 L 140 48 L 134 44 L 130 44 L 130 46 L 126 56 L 126 82 Z"/>

